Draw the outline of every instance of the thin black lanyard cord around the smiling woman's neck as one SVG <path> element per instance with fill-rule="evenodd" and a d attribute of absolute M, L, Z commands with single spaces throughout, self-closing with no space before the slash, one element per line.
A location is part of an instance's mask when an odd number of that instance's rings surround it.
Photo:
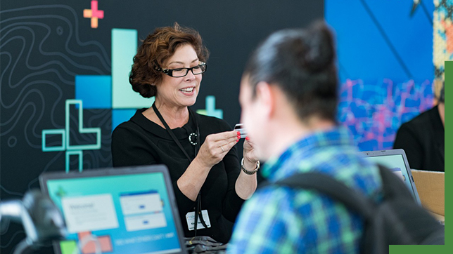
<path fill-rule="evenodd" d="M 187 157 L 187 159 L 189 159 L 189 163 L 191 163 L 192 162 L 191 157 L 189 156 L 189 154 L 187 154 L 187 152 L 184 149 L 184 147 L 182 147 L 181 142 L 179 142 L 179 140 L 176 138 L 176 136 L 174 135 L 172 129 L 168 126 L 167 122 L 164 120 L 164 118 L 160 114 L 158 108 L 155 107 L 155 103 L 153 103 L 153 110 L 154 110 L 155 114 L 158 116 L 159 120 L 165 126 L 165 129 L 167 130 L 168 134 L 170 134 L 170 136 L 172 136 L 173 141 L 178 145 L 179 149 L 181 149 L 181 151 L 184 153 L 184 155 Z M 195 146 L 195 156 L 196 156 L 197 153 L 198 153 L 199 147 L 200 147 L 200 129 L 198 128 L 198 119 L 196 119 L 196 116 L 192 113 L 191 109 L 189 109 L 189 114 L 191 114 L 192 118 L 195 120 L 196 129 L 197 129 L 197 133 L 196 133 L 197 134 L 196 135 L 196 138 L 197 138 L 196 143 L 197 143 L 197 145 Z M 200 212 L 200 210 L 201 210 L 201 190 L 197 194 L 197 199 L 196 199 L 195 203 L 196 203 L 196 208 L 195 208 L 195 218 L 194 218 L 194 221 L 193 221 L 193 225 L 195 227 L 195 236 L 196 236 L 197 235 L 197 228 L 198 228 L 198 215 L 200 215 L 201 225 L 203 225 L 203 227 L 205 227 L 205 229 L 208 228 L 208 226 L 206 225 L 205 220 L 203 219 L 203 215 Z"/>

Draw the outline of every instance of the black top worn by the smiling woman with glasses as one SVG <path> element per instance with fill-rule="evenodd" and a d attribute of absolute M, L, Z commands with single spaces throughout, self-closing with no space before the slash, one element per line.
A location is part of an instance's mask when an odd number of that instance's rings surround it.
<path fill-rule="evenodd" d="M 129 121 L 121 123 L 113 131 L 113 166 L 165 164 L 170 171 L 184 234 L 186 237 L 191 237 L 194 235 L 194 231 L 189 231 L 186 213 L 195 211 L 196 203 L 185 196 L 177 186 L 177 180 L 186 171 L 190 161 L 165 128 L 143 116 L 144 110 L 146 109 L 137 110 Z M 222 119 L 196 113 L 193 116 L 198 119 L 201 144 L 207 135 L 231 131 L 229 124 Z M 193 159 L 195 147 L 189 142 L 189 134 L 196 132 L 193 117 L 190 116 L 188 123 L 181 128 L 174 128 L 172 131 L 187 154 Z M 200 191 L 201 208 L 208 210 L 211 227 L 198 229 L 197 235 L 211 236 L 222 243 L 229 241 L 232 222 L 236 220 L 236 215 L 243 203 L 243 199 L 236 194 L 235 190 L 240 170 L 236 147 L 233 147 L 222 161 L 211 168 Z"/>

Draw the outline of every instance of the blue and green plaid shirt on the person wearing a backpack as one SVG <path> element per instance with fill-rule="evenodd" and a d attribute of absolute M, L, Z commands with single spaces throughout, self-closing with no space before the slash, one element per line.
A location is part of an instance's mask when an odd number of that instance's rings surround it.
<path fill-rule="evenodd" d="M 347 129 L 302 138 L 267 161 L 269 182 L 317 171 L 348 187 L 381 197 L 378 168 L 362 159 Z M 327 196 L 309 190 L 267 186 L 245 202 L 227 253 L 359 253 L 363 221 Z"/>

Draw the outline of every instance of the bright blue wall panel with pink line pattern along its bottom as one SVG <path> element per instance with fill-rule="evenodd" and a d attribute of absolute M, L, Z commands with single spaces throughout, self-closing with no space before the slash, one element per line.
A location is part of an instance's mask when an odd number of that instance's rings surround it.
<path fill-rule="evenodd" d="M 400 125 L 433 107 L 433 12 L 433 1 L 326 1 L 338 41 L 338 120 L 362 151 L 391 149 Z"/>

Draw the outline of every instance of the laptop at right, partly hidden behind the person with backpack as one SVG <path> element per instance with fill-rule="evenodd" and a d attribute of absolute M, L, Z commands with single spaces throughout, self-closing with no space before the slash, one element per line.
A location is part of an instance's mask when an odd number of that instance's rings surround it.
<path fill-rule="evenodd" d="M 419 193 L 415 187 L 411 168 L 409 167 L 409 162 L 403 149 L 367 151 L 362 153 L 365 155 L 365 159 L 371 163 L 379 163 L 382 166 L 390 168 L 404 182 L 404 185 L 407 186 L 407 189 L 414 196 L 416 203 L 419 203 L 421 206 Z"/>

